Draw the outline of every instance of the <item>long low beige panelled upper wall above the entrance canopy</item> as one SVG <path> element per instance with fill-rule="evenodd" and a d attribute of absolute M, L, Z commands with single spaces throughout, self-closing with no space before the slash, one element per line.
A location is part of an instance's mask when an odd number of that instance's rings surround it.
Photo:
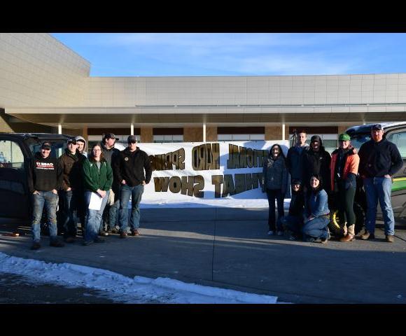
<path fill-rule="evenodd" d="M 406 73 L 340 76 L 92 77 L 85 106 L 393 104 Z"/>

